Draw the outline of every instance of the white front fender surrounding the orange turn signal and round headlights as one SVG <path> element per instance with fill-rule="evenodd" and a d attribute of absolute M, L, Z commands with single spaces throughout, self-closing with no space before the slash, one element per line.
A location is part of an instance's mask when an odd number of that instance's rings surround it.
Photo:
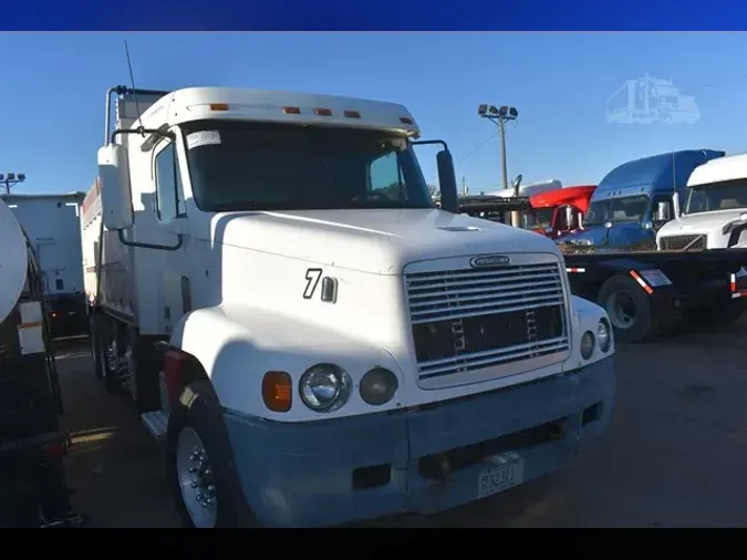
<path fill-rule="evenodd" d="M 394 372 L 400 387 L 405 385 L 402 367 L 392 354 L 317 324 L 300 322 L 298 318 L 261 309 L 220 305 L 200 309 L 181 318 L 169 344 L 197 359 L 210 378 L 220 404 L 239 414 L 303 422 L 402 406 L 395 395 L 386 405 L 372 407 L 357 393 L 361 377 L 374 366 Z M 351 375 L 353 392 L 344 406 L 330 414 L 313 412 L 303 405 L 295 388 L 293 405 L 288 413 L 267 409 L 261 397 L 266 372 L 287 372 L 298 387 L 301 375 L 320 363 L 336 364 Z"/>

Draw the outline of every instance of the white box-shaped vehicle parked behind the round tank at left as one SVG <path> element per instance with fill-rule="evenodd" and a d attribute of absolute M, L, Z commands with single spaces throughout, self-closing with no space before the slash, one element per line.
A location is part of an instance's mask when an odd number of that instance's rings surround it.
<path fill-rule="evenodd" d="M 87 334 L 81 270 L 83 193 L 0 195 L 23 226 L 39 258 L 52 336 Z"/>

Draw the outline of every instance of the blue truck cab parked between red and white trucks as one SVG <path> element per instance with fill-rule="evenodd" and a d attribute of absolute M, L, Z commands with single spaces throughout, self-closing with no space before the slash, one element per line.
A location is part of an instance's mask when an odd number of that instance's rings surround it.
<path fill-rule="evenodd" d="M 674 216 L 693 170 L 724 152 L 691 149 L 627 162 L 612 169 L 591 197 L 584 228 L 562 238 L 570 245 L 654 248 L 656 231 Z"/>

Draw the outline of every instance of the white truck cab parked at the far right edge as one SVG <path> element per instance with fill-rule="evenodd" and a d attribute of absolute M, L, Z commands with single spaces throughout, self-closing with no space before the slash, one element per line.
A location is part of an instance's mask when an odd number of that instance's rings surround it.
<path fill-rule="evenodd" d="M 682 211 L 656 236 L 660 249 L 747 247 L 747 154 L 695 168 L 676 206 Z"/>

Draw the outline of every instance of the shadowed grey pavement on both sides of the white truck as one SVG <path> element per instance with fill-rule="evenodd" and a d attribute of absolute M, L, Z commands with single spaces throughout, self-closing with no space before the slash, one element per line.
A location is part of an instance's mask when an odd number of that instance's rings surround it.
<path fill-rule="evenodd" d="M 747 320 L 619 348 L 612 425 L 559 474 L 428 518 L 437 527 L 745 527 Z M 158 445 L 106 395 L 84 345 L 59 352 L 74 504 L 94 527 L 175 527 Z"/>

